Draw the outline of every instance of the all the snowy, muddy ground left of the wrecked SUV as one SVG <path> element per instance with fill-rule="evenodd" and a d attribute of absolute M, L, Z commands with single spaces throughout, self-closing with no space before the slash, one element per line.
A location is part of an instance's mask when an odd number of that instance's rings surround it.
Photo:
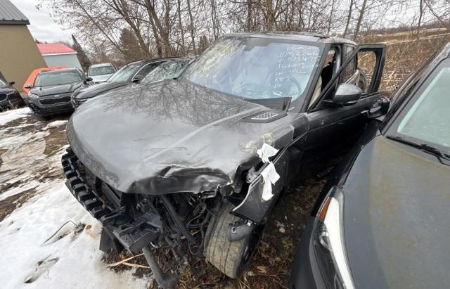
<path fill-rule="evenodd" d="M 147 288 L 150 279 L 133 270 L 108 269 L 100 223 L 65 187 L 55 138 L 67 120 L 42 122 L 26 110 L 0 113 L 0 209 L 29 196 L 0 221 L 0 288 Z"/>

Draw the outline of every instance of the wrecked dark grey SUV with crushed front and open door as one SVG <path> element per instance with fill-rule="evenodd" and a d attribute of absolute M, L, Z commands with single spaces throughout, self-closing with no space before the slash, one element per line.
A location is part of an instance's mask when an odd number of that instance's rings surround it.
<path fill-rule="evenodd" d="M 101 250 L 169 248 L 235 278 L 301 162 L 349 148 L 376 108 L 385 46 L 319 34 L 231 34 L 176 79 L 118 89 L 68 122 L 67 185 Z M 360 67 L 368 63 L 370 69 Z"/>

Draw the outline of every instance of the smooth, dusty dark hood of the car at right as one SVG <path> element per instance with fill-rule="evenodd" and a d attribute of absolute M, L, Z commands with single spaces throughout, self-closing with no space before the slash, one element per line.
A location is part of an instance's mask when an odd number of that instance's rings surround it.
<path fill-rule="evenodd" d="M 446 288 L 450 167 L 378 136 L 345 186 L 345 244 L 356 288 Z"/>

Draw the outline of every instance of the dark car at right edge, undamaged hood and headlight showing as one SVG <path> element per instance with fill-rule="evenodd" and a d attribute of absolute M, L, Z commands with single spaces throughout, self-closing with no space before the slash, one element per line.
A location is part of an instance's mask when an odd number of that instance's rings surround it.
<path fill-rule="evenodd" d="M 304 231 L 291 288 L 449 287 L 449 80 L 450 44 L 335 169 Z"/>

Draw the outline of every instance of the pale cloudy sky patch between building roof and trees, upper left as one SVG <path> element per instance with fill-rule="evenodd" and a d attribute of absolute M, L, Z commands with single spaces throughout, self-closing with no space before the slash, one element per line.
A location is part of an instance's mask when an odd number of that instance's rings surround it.
<path fill-rule="evenodd" d="M 39 41 L 55 42 L 58 40 L 71 40 L 72 30 L 58 25 L 50 17 L 49 10 L 45 7 L 37 10 L 39 0 L 10 0 L 30 20 L 31 34 Z"/>

